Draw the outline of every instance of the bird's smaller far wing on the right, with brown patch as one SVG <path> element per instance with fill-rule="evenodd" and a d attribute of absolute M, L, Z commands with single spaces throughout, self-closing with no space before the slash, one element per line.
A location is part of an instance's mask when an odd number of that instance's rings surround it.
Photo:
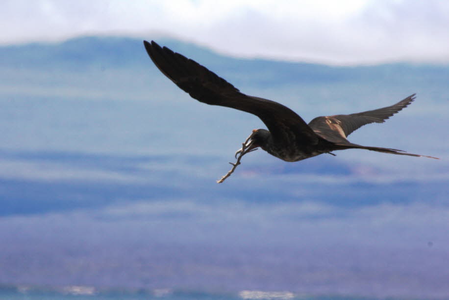
<path fill-rule="evenodd" d="M 408 96 L 398 103 L 382 109 L 368 110 L 352 114 L 337 114 L 332 116 L 316 117 L 310 121 L 309 126 L 325 139 L 333 142 L 348 141 L 347 137 L 363 125 L 370 123 L 383 123 L 386 119 L 407 107 L 415 99 L 415 94 Z"/>

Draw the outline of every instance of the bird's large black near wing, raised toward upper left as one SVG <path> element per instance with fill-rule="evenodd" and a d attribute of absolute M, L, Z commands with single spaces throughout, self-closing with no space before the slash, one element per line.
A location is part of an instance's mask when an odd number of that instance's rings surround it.
<path fill-rule="evenodd" d="M 297 142 L 317 143 L 319 137 L 293 110 L 271 100 L 245 95 L 196 61 L 160 47 L 154 41 L 144 41 L 144 45 L 159 70 L 198 101 L 258 116 L 277 142 L 294 138 Z"/>

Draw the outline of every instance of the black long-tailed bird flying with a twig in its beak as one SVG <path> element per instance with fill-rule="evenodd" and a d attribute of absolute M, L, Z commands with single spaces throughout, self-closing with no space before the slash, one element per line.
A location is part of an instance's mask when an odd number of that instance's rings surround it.
<path fill-rule="evenodd" d="M 399 155 L 424 156 L 405 151 L 362 146 L 351 143 L 347 136 L 369 123 L 383 123 L 386 119 L 408 106 L 415 94 L 397 104 L 382 109 L 352 114 L 321 116 L 309 124 L 293 110 L 277 102 L 249 96 L 240 92 L 229 82 L 209 71 L 196 61 L 167 47 L 160 47 L 154 41 L 144 41 L 145 49 L 159 70 L 183 91 L 209 105 L 239 109 L 258 116 L 268 130 L 255 129 L 248 143 L 239 153 L 248 153 L 260 147 L 271 155 L 286 162 L 297 162 L 334 150 L 366 149 Z"/>

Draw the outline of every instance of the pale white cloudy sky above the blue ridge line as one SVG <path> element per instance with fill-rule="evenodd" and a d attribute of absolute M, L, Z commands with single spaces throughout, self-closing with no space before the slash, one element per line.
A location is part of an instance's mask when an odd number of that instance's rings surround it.
<path fill-rule="evenodd" d="M 447 0 L 2 0 L 0 45 L 170 36 L 236 57 L 448 63 L 448 15 Z"/>

